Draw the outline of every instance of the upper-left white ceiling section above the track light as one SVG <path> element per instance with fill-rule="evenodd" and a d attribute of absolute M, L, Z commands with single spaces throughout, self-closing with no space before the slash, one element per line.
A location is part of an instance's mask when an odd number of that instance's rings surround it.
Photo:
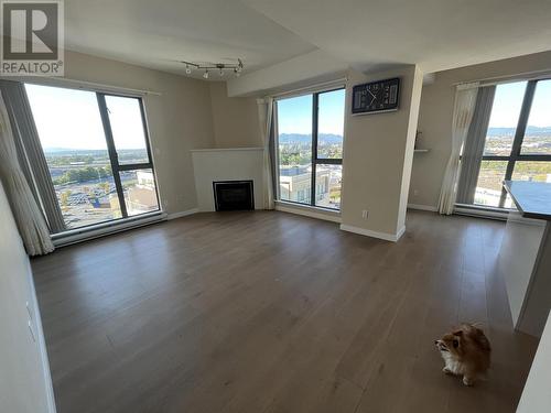
<path fill-rule="evenodd" d="M 66 0 L 65 43 L 179 74 L 185 66 L 177 61 L 241 58 L 247 73 L 316 48 L 238 0 Z"/>

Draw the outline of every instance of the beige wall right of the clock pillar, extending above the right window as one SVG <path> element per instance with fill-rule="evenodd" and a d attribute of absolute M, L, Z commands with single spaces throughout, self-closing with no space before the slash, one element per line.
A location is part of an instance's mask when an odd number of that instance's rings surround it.
<path fill-rule="evenodd" d="M 551 52 L 439 72 L 434 81 L 423 87 L 418 129 L 422 132 L 421 145 L 430 152 L 415 154 L 409 194 L 411 204 L 437 205 L 451 151 L 454 84 L 532 70 L 551 70 Z"/>

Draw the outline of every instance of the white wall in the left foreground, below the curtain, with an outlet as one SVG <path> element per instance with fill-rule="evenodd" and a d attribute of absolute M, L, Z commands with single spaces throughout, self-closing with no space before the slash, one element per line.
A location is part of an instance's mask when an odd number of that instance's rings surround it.
<path fill-rule="evenodd" d="M 0 412 L 53 413 L 31 267 L 1 184 L 0 233 Z"/>

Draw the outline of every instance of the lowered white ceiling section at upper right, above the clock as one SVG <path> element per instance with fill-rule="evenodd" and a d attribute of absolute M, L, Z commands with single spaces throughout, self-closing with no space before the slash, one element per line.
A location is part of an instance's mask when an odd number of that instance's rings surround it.
<path fill-rule="evenodd" d="M 425 72 L 551 48 L 549 0 L 244 0 L 359 69 Z"/>

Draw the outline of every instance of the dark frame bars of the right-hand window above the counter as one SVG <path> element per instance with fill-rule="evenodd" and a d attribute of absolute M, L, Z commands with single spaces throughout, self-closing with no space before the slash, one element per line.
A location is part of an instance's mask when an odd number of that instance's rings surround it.
<path fill-rule="evenodd" d="M 539 81 L 551 80 L 551 77 L 539 78 L 528 80 L 526 85 L 525 96 L 522 98 L 522 105 L 520 107 L 520 113 L 517 122 L 517 129 L 515 131 L 515 138 L 512 140 L 511 152 L 508 156 L 506 155 L 484 155 L 482 161 L 505 161 L 507 162 L 507 170 L 505 172 L 504 181 L 510 181 L 515 172 L 515 165 L 519 161 L 530 161 L 530 162 L 551 162 L 551 154 L 522 154 L 522 142 L 526 135 L 526 129 L 528 127 L 528 119 L 530 117 L 530 110 L 532 108 L 533 97 L 536 95 L 536 87 Z M 520 79 L 518 81 L 521 81 Z M 505 207 L 507 199 L 507 191 L 501 188 L 501 197 L 499 199 L 499 205 L 496 207 L 498 209 L 508 209 Z M 479 204 L 473 203 L 474 206 L 480 206 Z"/>

